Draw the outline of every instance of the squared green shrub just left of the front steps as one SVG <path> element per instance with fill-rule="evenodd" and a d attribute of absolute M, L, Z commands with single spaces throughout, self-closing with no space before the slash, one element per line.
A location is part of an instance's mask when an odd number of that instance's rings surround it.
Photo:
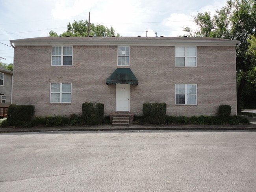
<path fill-rule="evenodd" d="M 85 124 L 97 125 L 101 124 L 104 115 L 104 104 L 103 103 L 91 103 L 86 102 L 82 104 L 82 113 Z"/>

